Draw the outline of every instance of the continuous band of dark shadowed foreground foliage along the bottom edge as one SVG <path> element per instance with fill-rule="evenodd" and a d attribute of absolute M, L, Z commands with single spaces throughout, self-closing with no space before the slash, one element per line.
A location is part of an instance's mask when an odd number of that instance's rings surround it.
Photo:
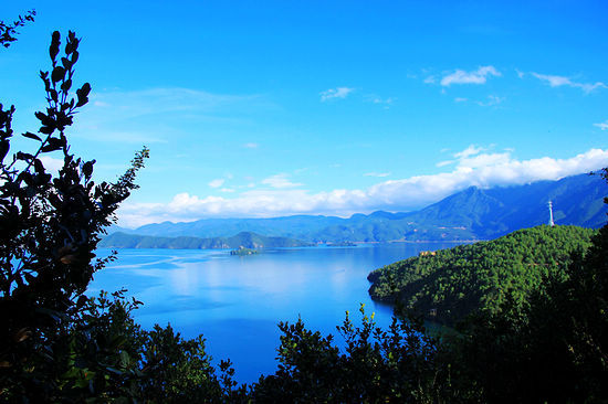
<path fill-rule="evenodd" d="M 530 245 L 533 247 L 533 245 Z M 229 361 L 213 368 L 202 336 L 141 330 L 139 305 L 115 294 L 81 298 L 60 327 L 11 342 L 20 361 L 0 368 L 4 402 L 143 403 L 602 403 L 608 400 L 608 227 L 517 302 L 473 311 L 457 332 L 429 333 L 398 316 L 373 316 L 332 336 L 302 320 L 280 323 L 279 369 L 238 385 Z M 43 327 L 43 326 L 41 326 Z M 19 334 L 18 334 L 19 336 Z M 53 337 L 52 339 L 48 339 Z M 44 342 L 36 344 L 35 342 Z M 19 348 L 18 350 L 14 350 Z M 6 357 L 4 357 L 6 358 Z"/>

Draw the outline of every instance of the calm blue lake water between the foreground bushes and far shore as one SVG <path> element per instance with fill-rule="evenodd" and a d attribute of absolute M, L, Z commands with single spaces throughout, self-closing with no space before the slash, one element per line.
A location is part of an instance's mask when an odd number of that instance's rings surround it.
<path fill-rule="evenodd" d="M 369 298 L 369 272 L 453 245 L 304 247 L 244 257 L 218 249 L 120 249 L 116 262 L 95 274 L 88 294 L 127 288 L 127 296 L 145 304 L 135 312 L 144 328 L 170 322 L 184 337 L 202 333 L 216 363 L 230 358 L 237 380 L 253 382 L 276 368 L 279 321 L 301 316 L 308 329 L 339 341 L 336 326 L 346 310 L 360 320 L 363 302 L 387 326 L 392 311 Z"/>

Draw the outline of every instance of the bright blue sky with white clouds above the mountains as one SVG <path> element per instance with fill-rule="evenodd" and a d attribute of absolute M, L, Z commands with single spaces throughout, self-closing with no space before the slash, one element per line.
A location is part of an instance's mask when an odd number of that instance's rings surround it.
<path fill-rule="evenodd" d="M 608 166 L 605 1 L 14 3 L 0 19 L 38 17 L 0 103 L 35 129 L 50 35 L 76 31 L 72 150 L 113 180 L 150 148 L 126 226 L 408 211 Z"/>

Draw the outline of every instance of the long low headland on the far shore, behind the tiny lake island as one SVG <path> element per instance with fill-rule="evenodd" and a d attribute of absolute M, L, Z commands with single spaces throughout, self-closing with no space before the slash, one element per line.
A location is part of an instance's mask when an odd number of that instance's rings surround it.
<path fill-rule="evenodd" d="M 104 237 L 99 247 L 112 248 L 279 248 L 279 247 L 302 247 L 311 243 L 301 242 L 287 237 L 266 237 L 255 233 L 242 232 L 232 237 L 156 237 L 141 236 L 137 234 L 113 233 Z"/>

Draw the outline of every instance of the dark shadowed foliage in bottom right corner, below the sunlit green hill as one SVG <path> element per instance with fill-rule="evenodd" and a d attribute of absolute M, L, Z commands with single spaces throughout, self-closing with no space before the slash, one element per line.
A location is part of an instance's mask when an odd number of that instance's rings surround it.
<path fill-rule="evenodd" d="M 454 363 L 488 402 L 608 401 L 608 227 L 563 276 L 479 313 L 452 343 Z"/>

